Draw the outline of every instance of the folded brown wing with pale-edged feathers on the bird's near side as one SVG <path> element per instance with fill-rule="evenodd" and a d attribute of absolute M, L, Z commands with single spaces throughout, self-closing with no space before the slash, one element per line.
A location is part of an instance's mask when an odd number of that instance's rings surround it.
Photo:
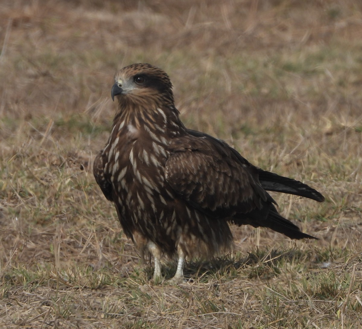
<path fill-rule="evenodd" d="M 173 142 L 171 152 L 165 165 L 168 184 L 207 215 L 231 217 L 274 202 L 260 185 L 257 168 L 222 144 L 185 136 Z"/>

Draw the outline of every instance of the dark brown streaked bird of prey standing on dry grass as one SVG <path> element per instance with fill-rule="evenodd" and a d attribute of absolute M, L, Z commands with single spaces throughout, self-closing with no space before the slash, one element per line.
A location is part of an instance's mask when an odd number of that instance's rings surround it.
<path fill-rule="evenodd" d="M 113 201 L 126 236 L 140 256 L 177 255 L 173 281 L 183 278 L 185 257 L 210 258 L 232 247 L 228 223 L 268 227 L 291 239 L 316 239 L 278 214 L 268 191 L 324 201 L 302 182 L 257 168 L 222 140 L 187 129 L 174 106 L 168 75 L 132 64 L 115 75 L 118 109 L 93 173 Z"/>

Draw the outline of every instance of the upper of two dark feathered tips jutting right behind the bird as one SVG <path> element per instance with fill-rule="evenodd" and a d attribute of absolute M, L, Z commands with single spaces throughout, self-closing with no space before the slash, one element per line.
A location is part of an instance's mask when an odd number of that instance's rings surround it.
<path fill-rule="evenodd" d="M 318 202 L 324 201 L 322 194 L 300 181 L 279 176 L 260 168 L 258 168 L 258 174 L 261 186 L 267 191 L 299 195 L 300 197 L 313 199 Z"/>

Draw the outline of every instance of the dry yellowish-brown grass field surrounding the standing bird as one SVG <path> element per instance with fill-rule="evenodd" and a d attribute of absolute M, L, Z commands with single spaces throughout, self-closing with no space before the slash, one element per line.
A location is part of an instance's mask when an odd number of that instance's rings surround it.
<path fill-rule="evenodd" d="M 1 1 L 1 327 L 361 326 L 361 29 L 352 0 Z M 320 240 L 233 228 L 233 255 L 152 285 L 90 170 L 135 62 L 188 127 L 324 193 L 275 195 Z"/>

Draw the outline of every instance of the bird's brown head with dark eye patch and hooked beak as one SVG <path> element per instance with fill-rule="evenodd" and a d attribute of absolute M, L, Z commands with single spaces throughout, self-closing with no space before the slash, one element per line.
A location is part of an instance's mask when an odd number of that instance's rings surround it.
<path fill-rule="evenodd" d="M 152 101 L 173 106 L 171 81 L 163 70 L 151 64 L 131 64 L 122 68 L 114 77 L 112 100 L 118 96 L 119 103 L 126 101 Z"/>

